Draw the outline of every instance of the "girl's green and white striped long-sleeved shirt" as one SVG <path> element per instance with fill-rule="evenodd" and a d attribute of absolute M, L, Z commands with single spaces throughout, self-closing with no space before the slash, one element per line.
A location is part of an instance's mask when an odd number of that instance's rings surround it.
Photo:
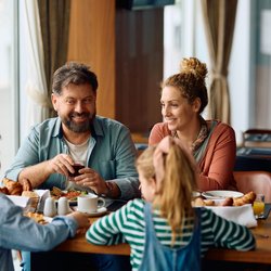
<path fill-rule="evenodd" d="M 87 241 L 95 245 L 129 243 L 132 270 L 138 270 L 144 254 L 145 221 L 143 199 L 128 202 L 122 208 L 95 221 L 86 233 Z M 171 245 L 171 228 L 159 211 L 153 212 L 154 228 L 163 245 Z M 193 218 L 186 218 L 182 234 L 175 247 L 184 246 L 193 233 Z M 209 247 L 225 247 L 237 250 L 255 248 L 255 238 L 243 225 L 228 221 L 209 209 L 202 210 L 202 257 Z"/>

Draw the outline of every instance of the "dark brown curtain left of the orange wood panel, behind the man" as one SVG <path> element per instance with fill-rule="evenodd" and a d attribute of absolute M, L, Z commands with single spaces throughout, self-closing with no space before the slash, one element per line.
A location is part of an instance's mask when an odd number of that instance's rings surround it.
<path fill-rule="evenodd" d="M 52 75 L 67 61 L 70 0 L 38 0 L 48 98 Z M 50 116 L 54 116 L 51 107 Z"/>

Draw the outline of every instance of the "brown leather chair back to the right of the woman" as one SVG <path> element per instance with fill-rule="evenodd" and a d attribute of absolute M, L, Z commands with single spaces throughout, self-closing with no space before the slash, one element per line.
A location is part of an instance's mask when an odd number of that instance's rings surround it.
<path fill-rule="evenodd" d="M 254 191 L 264 194 L 266 202 L 271 203 L 271 173 L 267 171 L 234 171 L 237 190 L 242 193 Z"/>

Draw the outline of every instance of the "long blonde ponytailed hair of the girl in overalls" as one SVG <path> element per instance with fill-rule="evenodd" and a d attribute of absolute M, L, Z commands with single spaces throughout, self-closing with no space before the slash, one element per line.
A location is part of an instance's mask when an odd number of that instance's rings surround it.
<path fill-rule="evenodd" d="M 146 180 L 156 177 L 154 153 L 157 146 L 149 146 L 138 158 L 137 168 Z M 192 193 L 196 189 L 197 171 L 190 153 L 175 141 L 171 142 L 168 153 L 163 153 L 165 175 L 157 183 L 153 208 L 158 208 L 172 230 L 172 244 L 176 235 L 181 234 L 183 218 L 194 216 L 191 205 Z"/>

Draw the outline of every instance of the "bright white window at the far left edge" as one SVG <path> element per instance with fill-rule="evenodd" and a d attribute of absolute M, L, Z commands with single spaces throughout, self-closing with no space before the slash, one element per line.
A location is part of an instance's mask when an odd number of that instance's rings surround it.
<path fill-rule="evenodd" d="M 2 176 L 18 145 L 17 1 L 0 0 L 0 162 Z"/>

